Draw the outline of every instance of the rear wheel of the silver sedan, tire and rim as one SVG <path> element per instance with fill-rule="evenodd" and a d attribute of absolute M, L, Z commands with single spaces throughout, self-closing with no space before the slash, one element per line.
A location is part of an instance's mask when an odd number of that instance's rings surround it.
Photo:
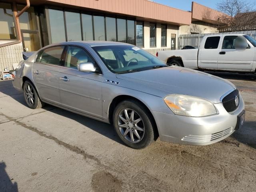
<path fill-rule="evenodd" d="M 23 95 L 26 104 L 32 109 L 42 108 L 44 102 L 42 102 L 36 92 L 36 88 L 30 80 L 26 80 L 23 84 Z"/>

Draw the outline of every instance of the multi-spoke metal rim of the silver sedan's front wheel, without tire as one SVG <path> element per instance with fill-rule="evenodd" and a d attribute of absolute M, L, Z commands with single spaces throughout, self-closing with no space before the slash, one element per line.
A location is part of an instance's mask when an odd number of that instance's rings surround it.
<path fill-rule="evenodd" d="M 144 122 L 133 109 L 125 108 L 118 114 L 118 129 L 122 136 L 131 143 L 138 143 L 144 138 Z"/>

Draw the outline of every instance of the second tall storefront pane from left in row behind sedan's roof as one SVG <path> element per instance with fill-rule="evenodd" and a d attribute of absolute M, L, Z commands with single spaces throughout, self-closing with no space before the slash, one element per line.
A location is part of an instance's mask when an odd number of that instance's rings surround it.
<path fill-rule="evenodd" d="M 68 41 L 81 41 L 81 22 L 80 14 L 74 12 L 65 12 L 67 38 Z"/>

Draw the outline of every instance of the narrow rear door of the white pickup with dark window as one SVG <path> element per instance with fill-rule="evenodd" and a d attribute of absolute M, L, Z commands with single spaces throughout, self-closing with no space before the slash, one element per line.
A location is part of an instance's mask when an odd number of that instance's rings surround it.
<path fill-rule="evenodd" d="M 199 48 L 198 68 L 217 69 L 220 52 L 220 36 L 207 37 L 204 46 Z"/>

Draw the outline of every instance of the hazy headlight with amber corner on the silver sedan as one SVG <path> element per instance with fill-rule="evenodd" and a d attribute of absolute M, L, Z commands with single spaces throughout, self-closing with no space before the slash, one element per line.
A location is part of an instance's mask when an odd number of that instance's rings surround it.
<path fill-rule="evenodd" d="M 217 113 L 211 102 L 194 96 L 173 94 L 166 96 L 164 102 L 176 115 L 203 117 Z"/>

